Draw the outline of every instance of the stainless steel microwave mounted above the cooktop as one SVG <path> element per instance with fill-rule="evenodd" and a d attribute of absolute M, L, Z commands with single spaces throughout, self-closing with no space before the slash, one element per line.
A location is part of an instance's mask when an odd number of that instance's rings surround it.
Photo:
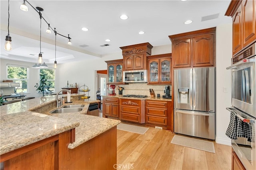
<path fill-rule="evenodd" d="M 147 82 L 147 70 L 123 71 L 123 82 L 146 83 Z"/>

